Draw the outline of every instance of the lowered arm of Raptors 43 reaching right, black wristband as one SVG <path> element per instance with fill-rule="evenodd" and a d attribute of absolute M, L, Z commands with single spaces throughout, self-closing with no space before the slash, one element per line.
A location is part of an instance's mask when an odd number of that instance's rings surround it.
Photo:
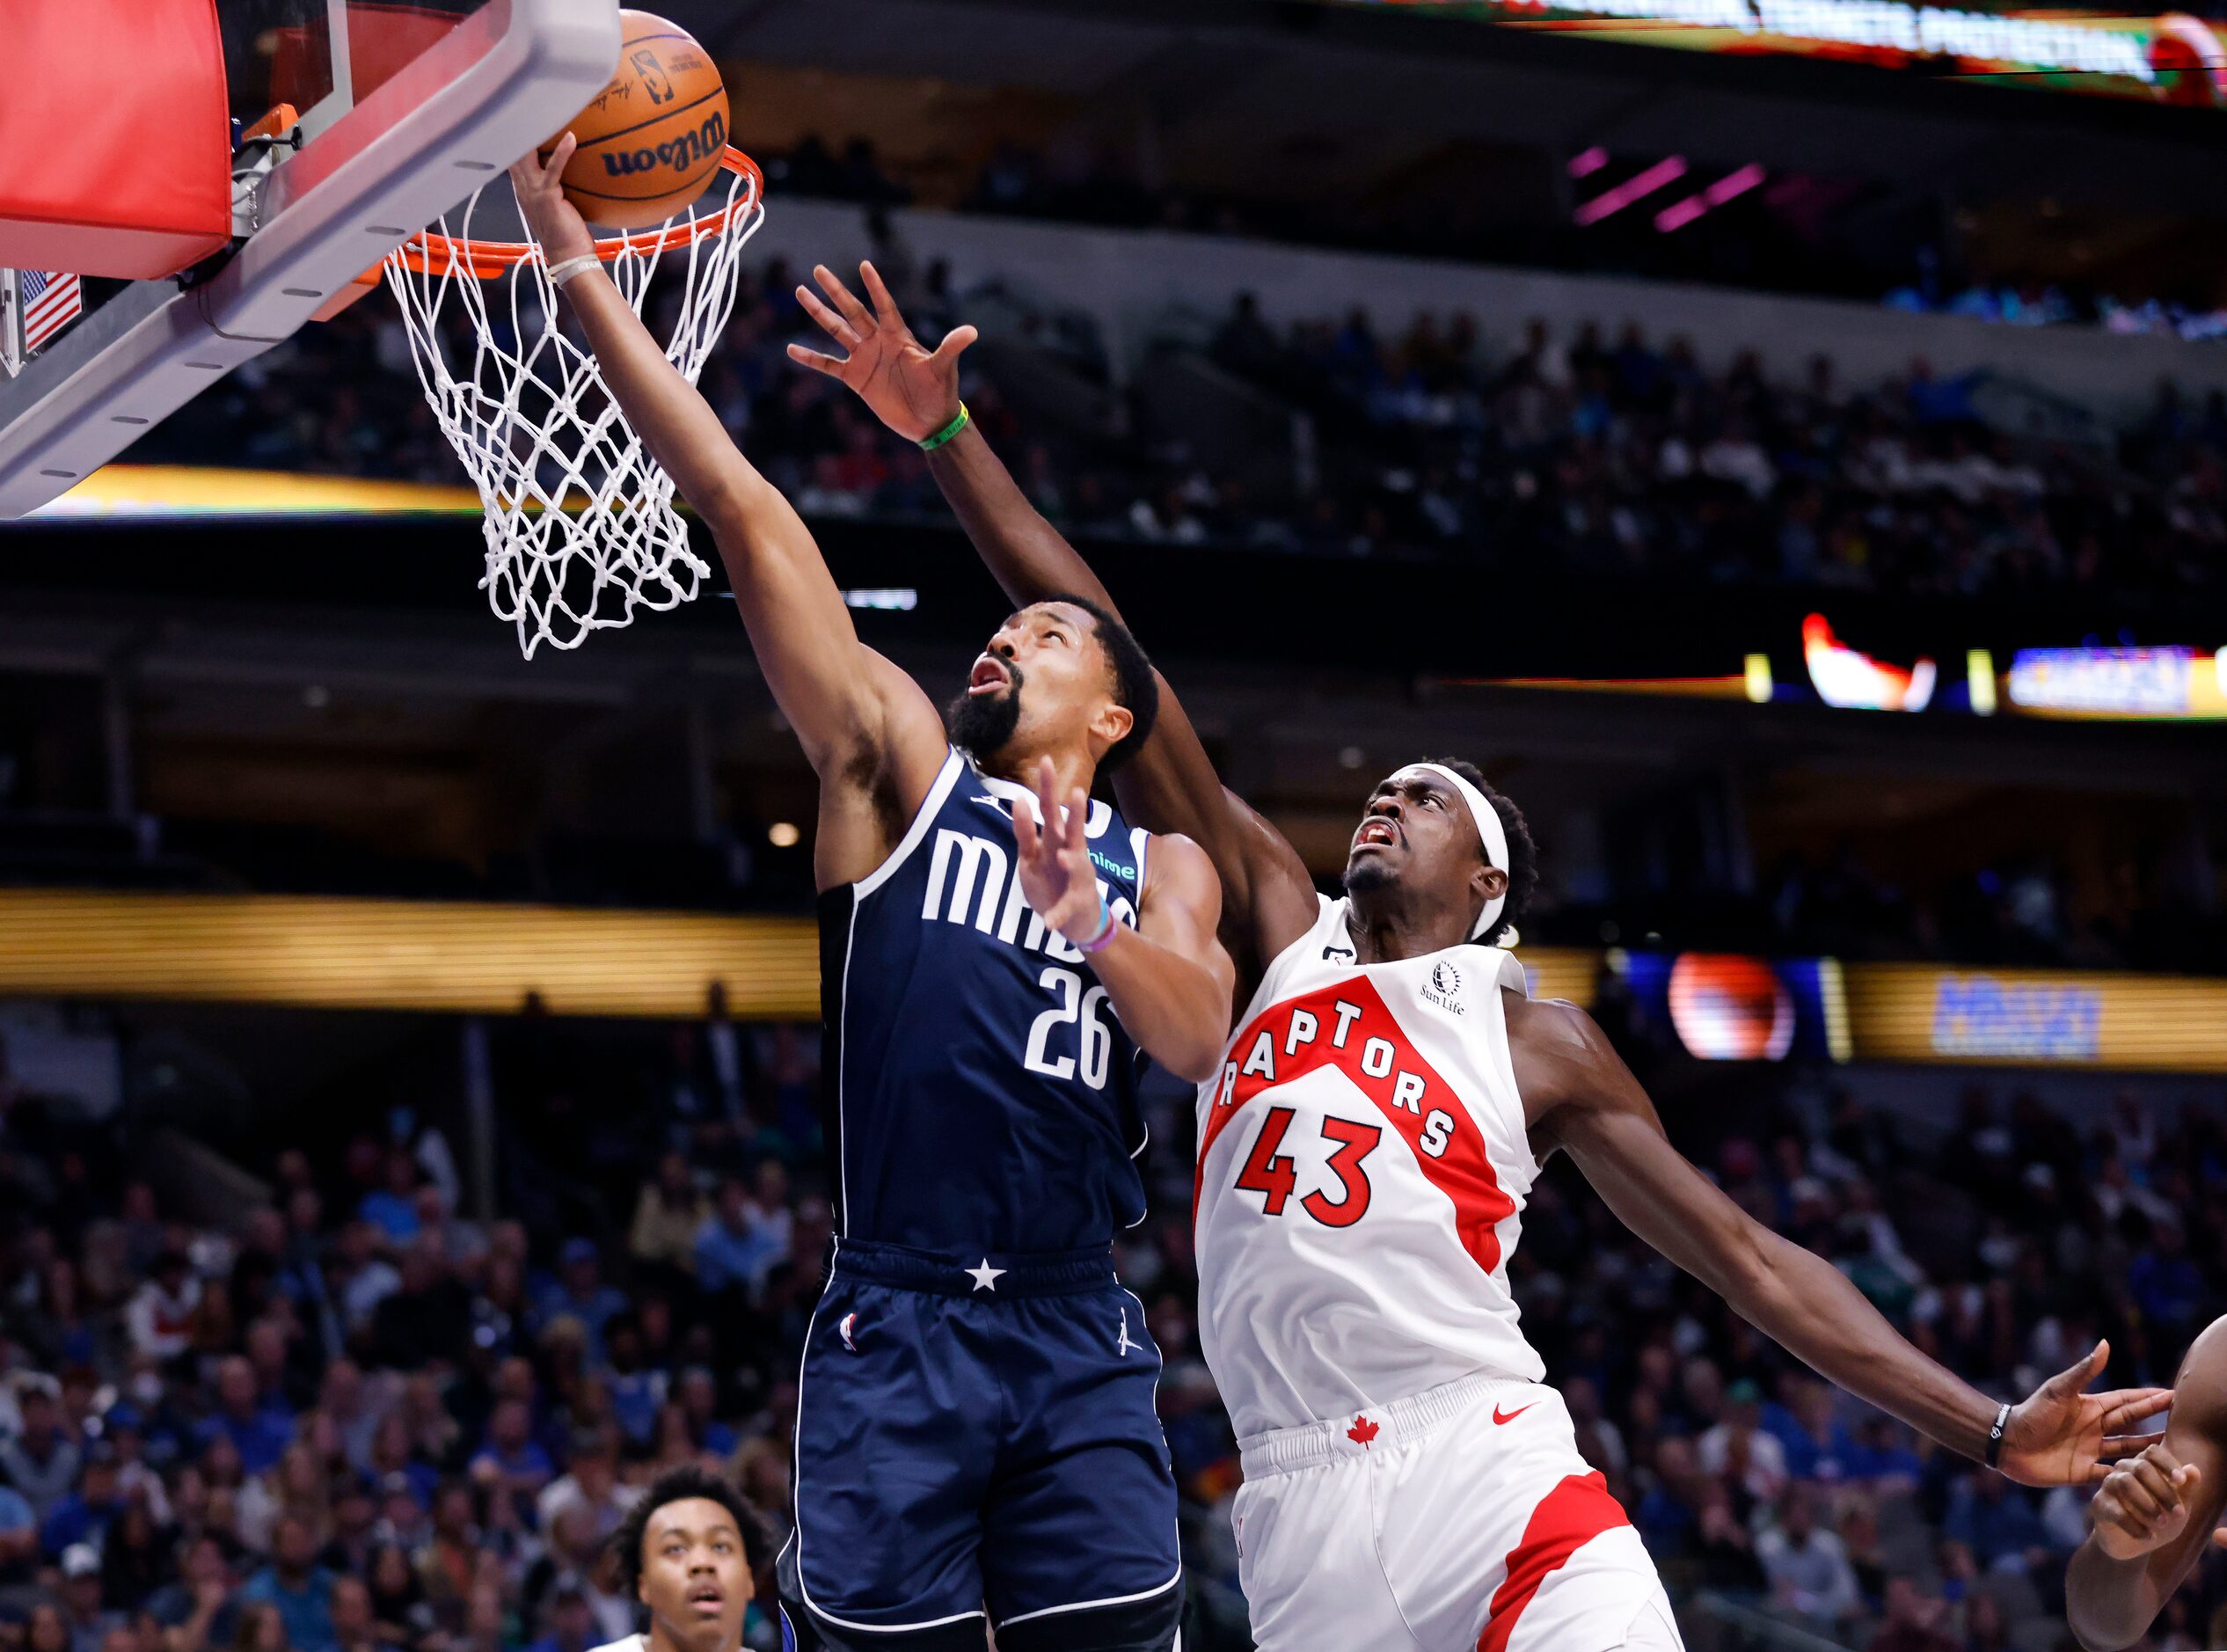
<path fill-rule="evenodd" d="M 1951 1452 L 1986 1458 L 1998 1405 L 1911 1347 L 1837 1267 L 1773 1233 L 1686 1162 L 1590 1015 L 1508 997 L 1508 1033 L 1541 1153 L 1566 1149 L 1617 1220 L 1824 1378 Z M 2082 1394 L 2107 1356 L 2098 1345 L 2011 1407 L 2004 1474 L 2084 1485 L 2142 1449 L 2147 1436 L 2131 1429 L 2171 1405 L 2171 1392 Z"/>

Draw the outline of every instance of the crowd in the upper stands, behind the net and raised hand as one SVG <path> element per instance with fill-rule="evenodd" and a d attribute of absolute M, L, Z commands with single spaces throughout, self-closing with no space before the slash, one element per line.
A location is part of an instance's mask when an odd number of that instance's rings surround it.
<path fill-rule="evenodd" d="M 913 272 L 915 325 L 969 303 Z M 811 514 L 944 521 L 918 454 L 784 345 L 815 338 L 793 269 L 757 267 L 704 374 L 753 459 Z M 1205 352 L 1301 416 L 1263 465 L 1203 456 L 1142 405 L 1111 430 L 1020 425 L 993 376 L 969 401 L 1036 501 L 1078 534 L 1512 570 L 1882 592 L 2216 592 L 2227 401 L 2160 390 L 2113 439 L 2033 439 L 1980 416 L 1986 383 L 1922 361 L 1848 385 L 1826 356 L 1704 367 L 1637 325 L 1485 334 L 1468 316 L 1272 325 L 1238 296 Z M 1105 370 L 1105 363 L 1087 363 Z M 1292 421 L 1267 421 L 1289 430 Z M 385 303 L 247 363 L 136 459 L 461 481 Z M 1289 476 L 1260 488 L 1247 476 Z"/>

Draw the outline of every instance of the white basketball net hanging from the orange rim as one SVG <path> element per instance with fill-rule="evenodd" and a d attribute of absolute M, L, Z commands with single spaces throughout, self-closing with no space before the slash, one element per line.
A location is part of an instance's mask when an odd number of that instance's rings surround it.
<path fill-rule="evenodd" d="M 735 309 L 742 247 L 764 223 L 755 171 L 724 176 L 724 203 L 715 185 L 686 216 L 626 236 L 606 258 L 637 316 L 659 265 L 679 274 L 666 361 L 690 385 Z M 673 476 L 644 452 L 595 356 L 566 330 L 539 247 L 508 267 L 474 265 L 459 249 L 481 194 L 390 254 L 385 272 L 425 401 L 485 508 L 479 586 L 532 659 L 541 643 L 579 648 L 588 632 L 626 626 L 637 608 L 690 601 L 710 568 L 688 550 Z M 693 232 L 722 207 L 724 227 Z"/>

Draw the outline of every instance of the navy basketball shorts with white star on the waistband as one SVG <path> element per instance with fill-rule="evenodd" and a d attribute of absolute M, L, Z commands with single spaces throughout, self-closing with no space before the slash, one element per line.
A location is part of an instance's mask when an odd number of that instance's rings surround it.
<path fill-rule="evenodd" d="M 795 1648 L 1165 1652 L 1160 1351 L 1109 1251 L 840 1240 L 797 1378 Z"/>

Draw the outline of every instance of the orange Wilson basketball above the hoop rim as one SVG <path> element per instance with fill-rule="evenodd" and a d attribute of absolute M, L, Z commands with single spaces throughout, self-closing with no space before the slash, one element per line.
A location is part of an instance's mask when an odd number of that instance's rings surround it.
<path fill-rule="evenodd" d="M 619 27 L 619 71 L 568 127 L 579 149 L 563 169 L 563 191 L 590 223 L 648 229 L 686 212 L 717 176 L 726 85 L 679 24 L 621 11 Z M 543 145 L 543 158 L 557 138 Z"/>

